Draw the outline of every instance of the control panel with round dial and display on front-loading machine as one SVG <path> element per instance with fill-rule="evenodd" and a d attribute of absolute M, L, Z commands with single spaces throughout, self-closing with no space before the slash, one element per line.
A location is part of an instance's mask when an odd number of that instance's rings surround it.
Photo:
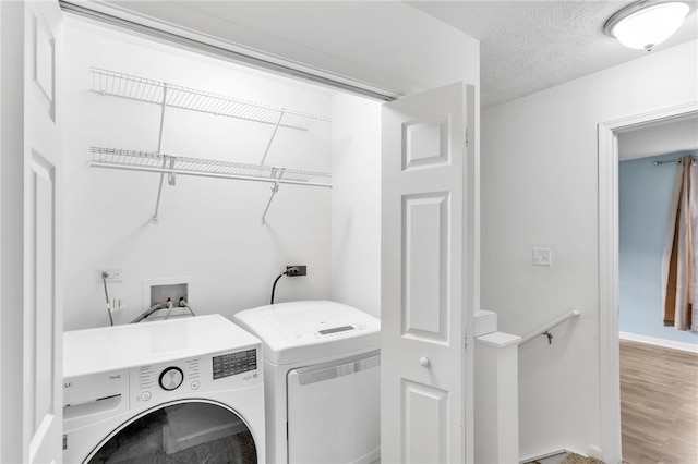
<path fill-rule="evenodd" d="M 131 407 L 173 395 L 200 394 L 262 382 L 258 347 L 134 366 L 130 373 Z"/>

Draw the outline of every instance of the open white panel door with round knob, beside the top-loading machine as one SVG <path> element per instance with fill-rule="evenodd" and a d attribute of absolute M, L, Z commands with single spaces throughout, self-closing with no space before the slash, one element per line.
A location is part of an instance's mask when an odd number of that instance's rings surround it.
<path fill-rule="evenodd" d="M 472 462 L 473 95 L 454 84 L 384 105 L 384 463 Z"/>

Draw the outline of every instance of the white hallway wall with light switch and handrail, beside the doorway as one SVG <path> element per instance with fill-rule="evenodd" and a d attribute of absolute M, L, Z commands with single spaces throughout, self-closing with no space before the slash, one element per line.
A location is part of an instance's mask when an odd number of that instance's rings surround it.
<path fill-rule="evenodd" d="M 483 111 L 482 306 L 517 334 L 582 312 L 552 345 L 520 349 L 524 457 L 600 447 L 597 124 L 696 100 L 697 51 L 643 54 Z M 534 246 L 552 248 L 552 267 L 531 265 Z"/>

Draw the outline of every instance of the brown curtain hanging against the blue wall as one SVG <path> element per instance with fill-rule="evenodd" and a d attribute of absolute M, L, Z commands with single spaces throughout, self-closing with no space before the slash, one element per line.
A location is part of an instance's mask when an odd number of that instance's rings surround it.
<path fill-rule="evenodd" d="M 696 254 L 694 253 L 696 252 Z M 662 259 L 664 326 L 698 332 L 698 168 L 678 162 Z"/>

